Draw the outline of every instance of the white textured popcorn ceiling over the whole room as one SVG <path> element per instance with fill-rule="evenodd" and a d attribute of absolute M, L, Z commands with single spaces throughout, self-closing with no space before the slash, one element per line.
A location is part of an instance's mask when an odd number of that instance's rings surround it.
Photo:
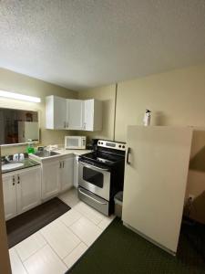
<path fill-rule="evenodd" d="M 69 89 L 202 62 L 204 0 L 0 0 L 0 67 Z"/>

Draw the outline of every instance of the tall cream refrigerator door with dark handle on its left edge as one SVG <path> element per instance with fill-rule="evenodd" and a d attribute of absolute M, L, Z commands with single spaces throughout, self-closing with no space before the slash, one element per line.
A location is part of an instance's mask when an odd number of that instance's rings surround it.
<path fill-rule="evenodd" d="M 122 219 L 175 253 L 187 184 L 192 130 L 128 126 Z"/>

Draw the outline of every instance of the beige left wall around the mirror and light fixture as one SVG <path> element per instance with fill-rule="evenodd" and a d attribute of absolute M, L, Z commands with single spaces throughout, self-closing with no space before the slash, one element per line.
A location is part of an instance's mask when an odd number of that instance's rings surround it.
<path fill-rule="evenodd" d="M 41 98 L 41 103 L 24 102 L 20 100 L 7 100 L 0 98 L 0 108 L 15 108 L 21 110 L 39 111 L 40 133 L 43 144 L 64 143 L 64 136 L 72 132 L 52 131 L 45 129 L 45 97 L 47 95 L 57 95 L 65 98 L 77 98 L 77 92 L 67 90 L 45 81 L 27 77 L 10 70 L 0 68 L 0 90 L 14 91 L 30 96 Z M 2 148 L 2 154 L 20 153 L 25 150 L 25 146 L 15 146 Z"/>

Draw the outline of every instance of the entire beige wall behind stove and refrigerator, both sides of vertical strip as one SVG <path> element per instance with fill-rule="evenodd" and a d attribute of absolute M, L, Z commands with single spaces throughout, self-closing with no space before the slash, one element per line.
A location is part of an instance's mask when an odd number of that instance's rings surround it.
<path fill-rule="evenodd" d="M 114 86 L 79 93 L 80 98 L 109 98 L 114 113 Z M 175 69 L 118 83 L 115 140 L 126 141 L 126 129 L 142 124 L 146 109 L 152 111 L 152 125 L 190 125 L 193 133 L 187 195 L 195 195 L 191 216 L 205 223 L 205 65 Z M 110 107 L 112 106 L 112 107 Z M 107 116 L 107 117 L 108 117 Z M 114 120 L 104 117 L 102 137 L 112 139 Z M 199 127 L 199 128 L 197 128 Z M 98 137 L 101 132 L 89 136 Z M 100 136 L 101 137 L 101 136 Z"/>

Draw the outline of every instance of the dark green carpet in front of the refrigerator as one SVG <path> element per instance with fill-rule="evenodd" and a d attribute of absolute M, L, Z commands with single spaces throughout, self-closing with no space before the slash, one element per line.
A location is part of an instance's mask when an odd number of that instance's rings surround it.
<path fill-rule="evenodd" d="M 179 237 L 178 255 L 173 257 L 124 227 L 117 218 L 67 273 L 205 273 L 204 257 L 187 237 L 186 228 L 184 231 Z"/>

